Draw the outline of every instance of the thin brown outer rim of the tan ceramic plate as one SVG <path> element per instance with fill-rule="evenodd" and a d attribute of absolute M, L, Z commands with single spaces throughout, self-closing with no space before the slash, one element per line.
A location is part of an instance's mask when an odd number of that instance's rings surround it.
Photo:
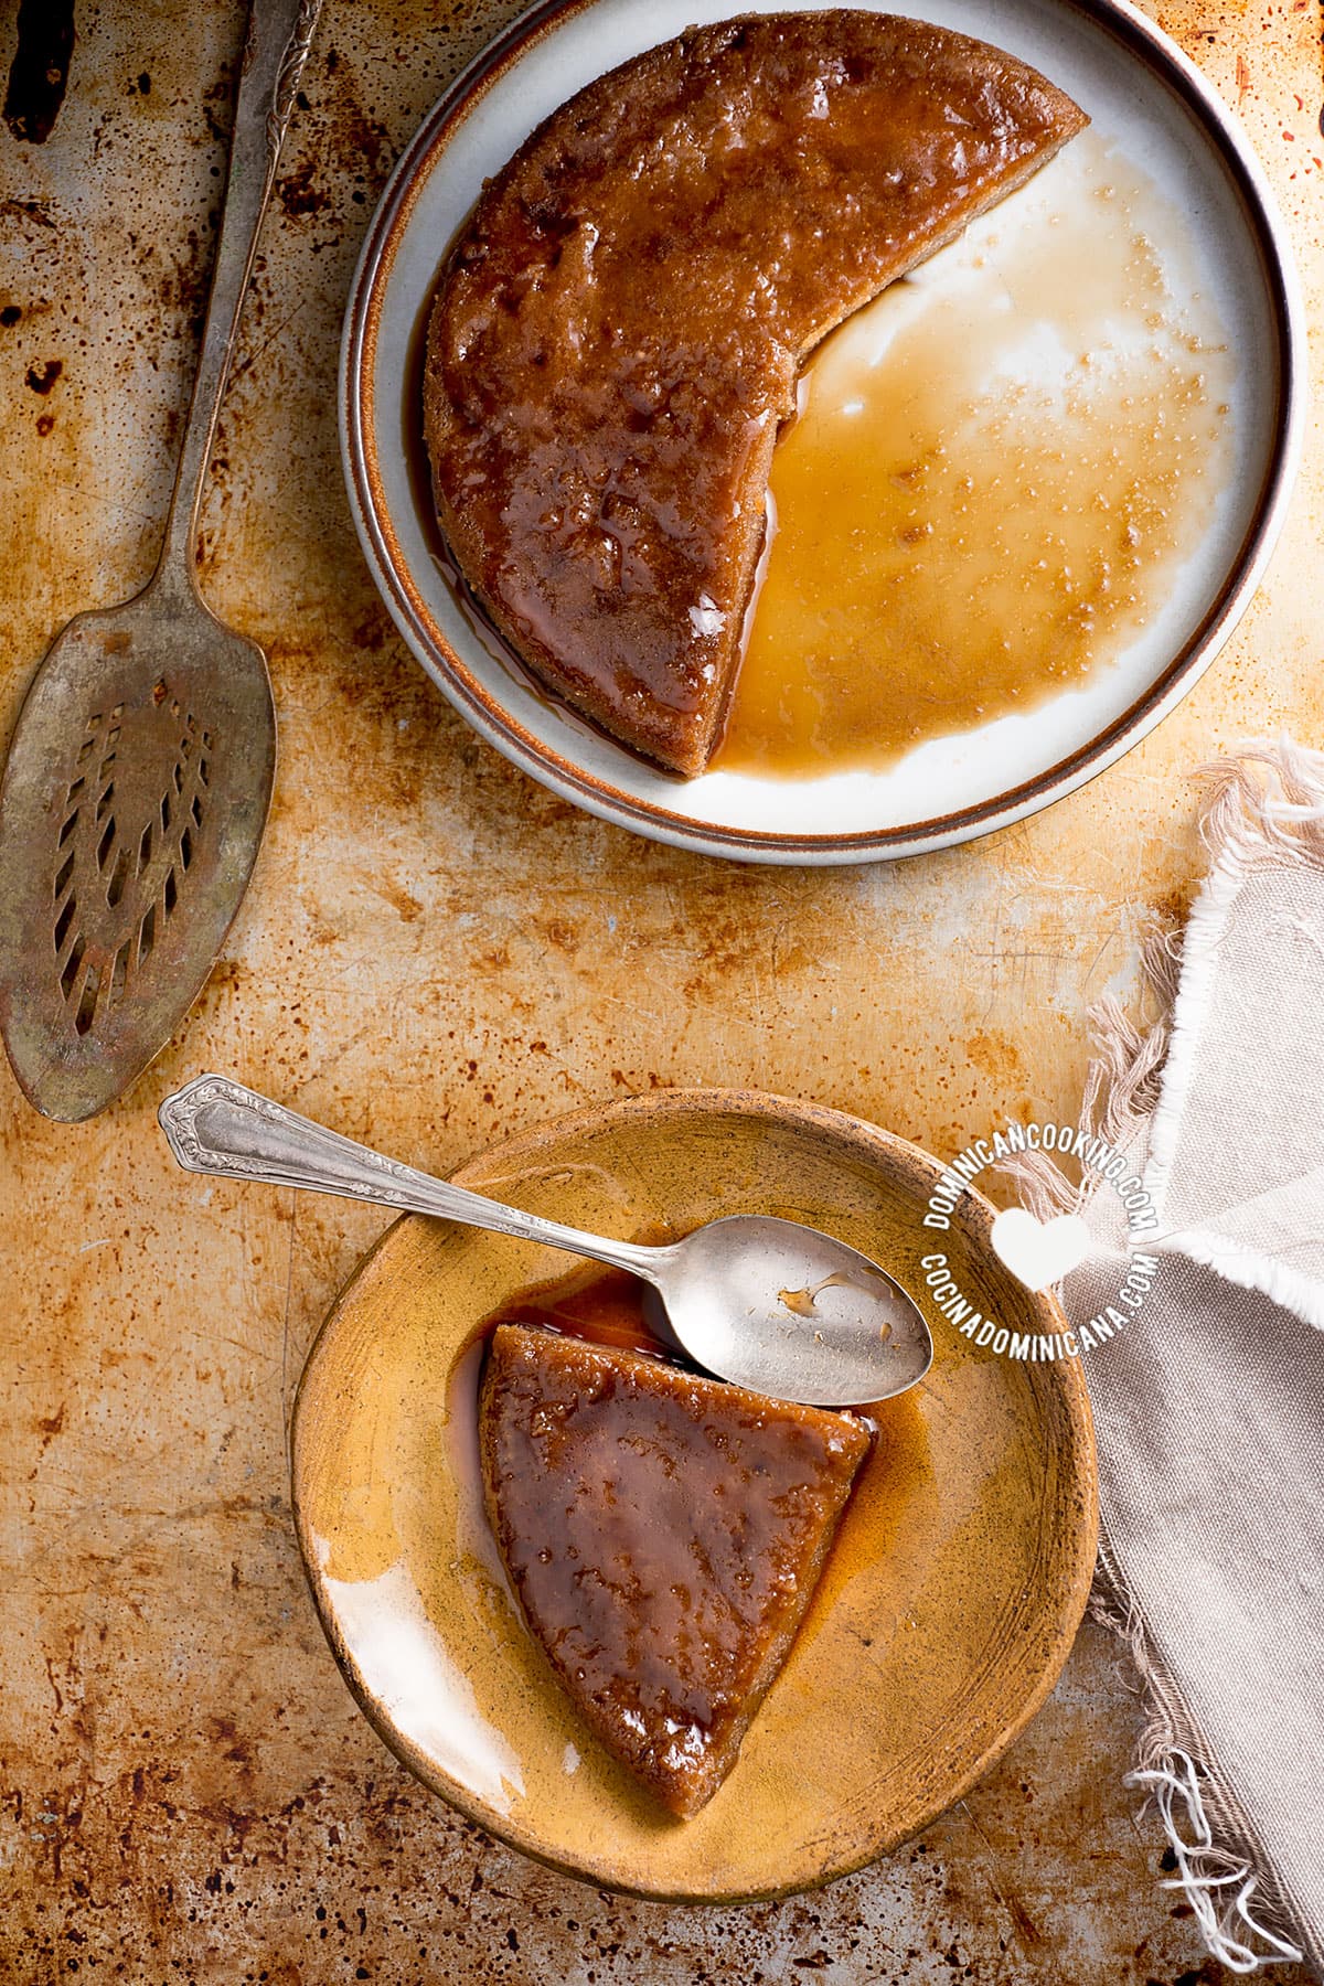
<path fill-rule="evenodd" d="M 850 1116 L 846 1110 L 830 1110 L 826 1104 L 812 1104 L 794 1096 L 774 1096 L 768 1090 L 649 1090 L 643 1096 L 625 1096 L 609 1104 L 594 1104 L 586 1110 L 572 1110 L 566 1116 L 552 1118 L 550 1122 L 538 1124 L 534 1130 L 520 1132 L 514 1138 L 506 1138 L 502 1144 L 490 1146 L 486 1152 L 476 1154 L 466 1160 L 457 1172 L 451 1174 L 457 1186 L 470 1186 L 474 1176 L 482 1176 L 490 1166 L 528 1166 L 536 1162 L 538 1156 L 550 1146 L 558 1144 L 566 1136 L 582 1136 L 586 1132 L 597 1130 L 605 1122 L 621 1122 L 631 1116 L 635 1118 L 657 1118 L 657 1114 L 667 1116 L 669 1112 L 738 1112 L 752 1118 L 768 1118 L 778 1124 L 798 1124 L 806 1130 L 816 1130 L 828 1138 L 850 1144 L 858 1154 L 865 1158 L 875 1158 L 885 1154 L 893 1164 L 899 1162 L 907 1172 L 921 1174 L 925 1188 L 939 1182 L 943 1174 L 943 1164 L 933 1158 L 923 1146 L 911 1144 L 907 1138 L 899 1138 L 895 1132 L 883 1130 L 879 1124 L 869 1124 L 865 1118 Z M 981 1215 L 985 1229 L 993 1227 L 996 1219 L 996 1207 L 991 1200 L 967 1184 L 965 1200 Z M 879 1861 L 883 1855 L 895 1853 L 903 1847 L 903 1841 L 871 1847 L 854 1861 L 844 1861 L 840 1867 L 824 1869 L 814 1881 L 792 1881 L 790 1885 L 760 1889 L 754 1893 L 730 1893 L 730 1895 L 707 1895 L 693 1897 L 685 1893 L 671 1893 L 659 1889 L 641 1889 L 627 1883 L 611 1883 L 601 1871 L 586 1871 L 574 1863 L 562 1861 L 548 1853 L 538 1837 L 528 1829 L 506 1823 L 500 1815 L 494 1815 L 480 1799 L 476 1799 L 466 1787 L 459 1785 L 455 1779 L 443 1777 L 427 1754 L 409 1742 L 405 1734 L 395 1730 L 387 1716 L 377 1706 L 373 1694 L 365 1688 L 357 1674 L 353 1656 L 345 1648 L 333 1609 L 330 1607 L 324 1593 L 324 1577 L 318 1567 L 318 1557 L 314 1551 L 312 1537 L 304 1527 L 304 1507 L 300 1495 L 300 1410 L 304 1402 L 304 1386 L 308 1374 L 318 1364 L 324 1343 L 328 1341 L 335 1321 L 349 1301 L 359 1277 L 367 1273 L 371 1263 L 377 1259 L 381 1249 L 389 1243 L 391 1235 L 403 1225 L 403 1221 L 417 1219 L 419 1215 L 403 1213 L 397 1221 L 377 1237 L 377 1241 L 363 1253 L 355 1263 L 349 1277 L 341 1285 L 326 1313 L 318 1335 L 304 1360 L 304 1370 L 300 1372 L 300 1382 L 294 1392 L 294 1406 L 290 1414 L 290 1503 L 294 1511 L 294 1527 L 300 1545 L 300 1559 L 304 1565 L 304 1577 L 308 1579 L 308 1589 L 318 1611 L 318 1621 L 322 1623 L 322 1632 L 328 1638 L 331 1654 L 335 1656 L 335 1666 L 339 1668 L 353 1700 L 359 1710 L 373 1726 L 385 1748 L 405 1766 L 417 1779 L 423 1781 L 433 1793 L 455 1807 L 464 1819 L 472 1821 L 486 1835 L 502 1841 L 510 1849 L 518 1849 L 520 1855 L 528 1855 L 530 1861 L 542 1863 L 546 1869 L 558 1871 L 558 1875 L 574 1877 L 580 1883 L 592 1883 L 596 1887 L 605 1887 L 625 1897 L 643 1897 L 653 1903 L 699 1903 L 699 1905 L 734 1905 L 734 1903 L 766 1903 L 782 1897 L 804 1895 L 814 1889 L 824 1889 L 828 1883 L 836 1883 L 842 1877 L 856 1875 L 860 1869 L 867 1869 L 871 1863 Z M 1048 1291 L 1028 1293 L 1030 1301 L 1040 1309 L 1044 1319 L 1044 1333 L 1066 1331 L 1068 1323 L 1062 1313 L 1060 1303 Z M 1094 1414 L 1090 1410 L 1090 1392 L 1086 1386 L 1086 1376 L 1080 1358 L 1054 1360 L 1050 1366 L 1036 1368 L 1046 1372 L 1062 1388 L 1062 1398 L 1066 1406 L 1066 1416 L 1070 1424 L 1070 1448 L 1076 1480 L 1080 1486 L 1080 1499 L 1084 1509 L 1084 1521 L 1074 1533 L 1074 1563 L 1070 1565 L 1070 1579 L 1064 1581 L 1066 1603 L 1058 1615 L 1052 1636 L 1044 1648 L 1044 1660 L 1040 1674 L 1032 1688 L 1028 1690 L 1020 1710 L 998 1730 L 973 1760 L 969 1770 L 959 1775 L 951 1787 L 943 1787 L 941 1797 L 933 1801 L 933 1809 L 925 1811 L 917 1821 L 915 1829 L 907 1833 L 905 1839 L 915 1839 L 929 1827 L 941 1813 L 947 1813 L 959 1799 L 965 1799 L 969 1789 L 981 1779 L 1008 1750 L 1008 1746 L 1020 1736 L 1030 1718 L 1042 1708 L 1050 1690 L 1054 1688 L 1066 1658 L 1076 1640 L 1076 1632 L 1084 1619 L 1086 1603 L 1090 1599 L 1090 1587 L 1094 1583 L 1094 1567 L 1098 1559 L 1098 1460 L 1094 1450 Z"/>

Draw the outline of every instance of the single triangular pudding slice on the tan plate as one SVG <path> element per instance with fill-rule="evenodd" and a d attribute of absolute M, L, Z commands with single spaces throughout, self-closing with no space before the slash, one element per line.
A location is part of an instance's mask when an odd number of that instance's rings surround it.
<path fill-rule="evenodd" d="M 500 1325 L 478 1440 L 502 1561 L 566 1694 L 673 1813 L 697 1813 L 786 1660 L 867 1430 Z"/>

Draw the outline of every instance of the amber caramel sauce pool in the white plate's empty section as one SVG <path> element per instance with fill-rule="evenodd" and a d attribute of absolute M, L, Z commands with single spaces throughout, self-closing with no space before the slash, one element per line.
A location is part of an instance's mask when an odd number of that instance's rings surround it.
<path fill-rule="evenodd" d="M 721 771 L 883 767 L 1080 687 L 1163 604 L 1231 473 L 1233 363 L 1155 240 L 1179 216 L 1086 133 L 824 344 Z"/>

